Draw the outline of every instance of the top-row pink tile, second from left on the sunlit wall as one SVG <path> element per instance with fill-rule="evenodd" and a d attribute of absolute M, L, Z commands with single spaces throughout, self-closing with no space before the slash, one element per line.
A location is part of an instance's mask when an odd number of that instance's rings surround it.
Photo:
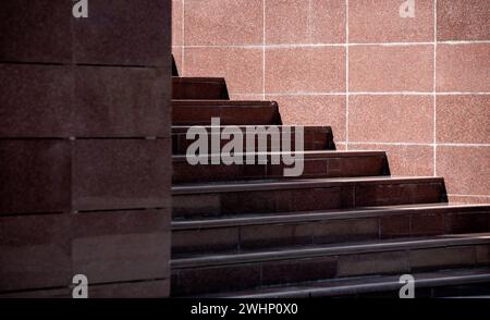
<path fill-rule="evenodd" d="M 345 12 L 345 0 L 266 0 L 266 44 L 343 44 Z"/>

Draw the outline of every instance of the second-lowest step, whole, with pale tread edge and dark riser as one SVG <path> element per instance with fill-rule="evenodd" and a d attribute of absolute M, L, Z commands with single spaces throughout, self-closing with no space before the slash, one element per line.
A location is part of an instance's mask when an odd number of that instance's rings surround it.
<path fill-rule="evenodd" d="M 172 295 L 253 290 L 363 275 L 402 275 L 490 263 L 490 234 L 350 243 L 171 260 Z"/>

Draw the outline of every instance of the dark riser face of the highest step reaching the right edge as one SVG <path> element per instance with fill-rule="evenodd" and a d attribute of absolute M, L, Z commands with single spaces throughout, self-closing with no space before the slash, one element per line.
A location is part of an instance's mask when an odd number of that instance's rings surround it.
<path fill-rule="evenodd" d="M 489 231 L 490 210 L 470 213 L 392 213 L 357 219 L 173 230 L 172 254 L 238 251 Z"/>

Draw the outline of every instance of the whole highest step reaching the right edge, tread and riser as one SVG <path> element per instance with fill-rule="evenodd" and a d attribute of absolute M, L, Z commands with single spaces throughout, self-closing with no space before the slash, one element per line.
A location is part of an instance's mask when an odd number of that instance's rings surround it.
<path fill-rule="evenodd" d="M 415 205 L 172 221 L 172 254 L 490 232 L 490 205 Z"/>

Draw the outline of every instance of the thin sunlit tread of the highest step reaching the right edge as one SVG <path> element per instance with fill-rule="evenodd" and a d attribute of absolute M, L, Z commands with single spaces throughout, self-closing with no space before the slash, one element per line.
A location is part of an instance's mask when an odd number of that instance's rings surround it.
<path fill-rule="evenodd" d="M 241 216 L 224 216 L 220 218 L 187 219 L 172 221 L 172 230 L 212 229 L 237 225 L 255 224 L 280 224 L 295 222 L 314 222 L 339 219 L 356 219 L 369 217 L 387 217 L 409 213 L 441 213 L 441 212 L 487 212 L 489 205 L 465 205 L 465 204 L 425 204 L 425 205 L 401 205 L 380 207 L 359 207 L 344 210 L 322 210 L 307 212 L 281 212 L 281 213 L 254 213 Z"/>

